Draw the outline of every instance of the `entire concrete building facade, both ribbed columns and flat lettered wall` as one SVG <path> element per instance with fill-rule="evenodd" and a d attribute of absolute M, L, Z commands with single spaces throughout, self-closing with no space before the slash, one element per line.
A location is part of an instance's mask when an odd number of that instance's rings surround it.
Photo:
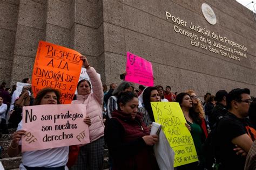
<path fill-rule="evenodd" d="M 202 3 L 214 10 L 217 24 L 207 23 Z M 155 84 L 172 91 L 194 89 L 203 96 L 247 87 L 256 95 L 256 22 L 233 0 L 2 0 L 0 8 L 0 79 L 10 84 L 31 76 L 38 41 L 46 40 L 86 55 L 106 84 L 120 82 L 130 51 L 151 61 Z M 166 19 L 166 11 L 243 44 L 247 58 L 192 46 L 174 25 L 201 34 Z"/>

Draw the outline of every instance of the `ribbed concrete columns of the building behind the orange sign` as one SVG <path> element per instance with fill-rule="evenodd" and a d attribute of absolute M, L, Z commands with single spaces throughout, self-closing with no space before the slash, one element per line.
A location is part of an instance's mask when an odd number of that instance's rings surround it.
<path fill-rule="evenodd" d="M 79 51 L 104 73 L 102 1 L 6 0 L 0 8 L 1 82 L 31 77 L 39 40 Z"/>

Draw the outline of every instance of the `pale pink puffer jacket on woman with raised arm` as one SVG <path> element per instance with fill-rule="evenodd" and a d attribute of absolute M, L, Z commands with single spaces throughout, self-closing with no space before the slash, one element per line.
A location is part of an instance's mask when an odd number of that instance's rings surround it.
<path fill-rule="evenodd" d="M 105 126 L 102 117 L 103 88 L 102 81 L 100 81 L 93 67 L 87 69 L 86 72 L 90 77 L 93 92 L 85 96 L 77 95 L 77 100 L 72 101 L 72 103 L 86 105 L 87 116 L 92 122 L 91 126 L 89 126 L 90 142 L 92 142 L 104 136 Z"/>

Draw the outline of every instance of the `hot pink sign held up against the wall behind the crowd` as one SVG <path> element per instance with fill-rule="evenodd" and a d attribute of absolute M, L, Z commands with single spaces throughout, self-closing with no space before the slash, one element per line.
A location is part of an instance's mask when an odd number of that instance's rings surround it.
<path fill-rule="evenodd" d="M 127 52 L 125 81 L 154 86 L 151 62 Z"/>

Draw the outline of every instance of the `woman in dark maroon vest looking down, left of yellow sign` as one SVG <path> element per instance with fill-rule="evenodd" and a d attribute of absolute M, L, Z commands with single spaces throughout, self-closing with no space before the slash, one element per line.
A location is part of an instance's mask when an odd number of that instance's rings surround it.
<path fill-rule="evenodd" d="M 132 92 L 121 93 L 117 98 L 118 110 L 105 128 L 105 140 L 113 160 L 113 170 L 159 169 L 152 145 L 158 142 L 138 113 L 138 97 Z"/>

